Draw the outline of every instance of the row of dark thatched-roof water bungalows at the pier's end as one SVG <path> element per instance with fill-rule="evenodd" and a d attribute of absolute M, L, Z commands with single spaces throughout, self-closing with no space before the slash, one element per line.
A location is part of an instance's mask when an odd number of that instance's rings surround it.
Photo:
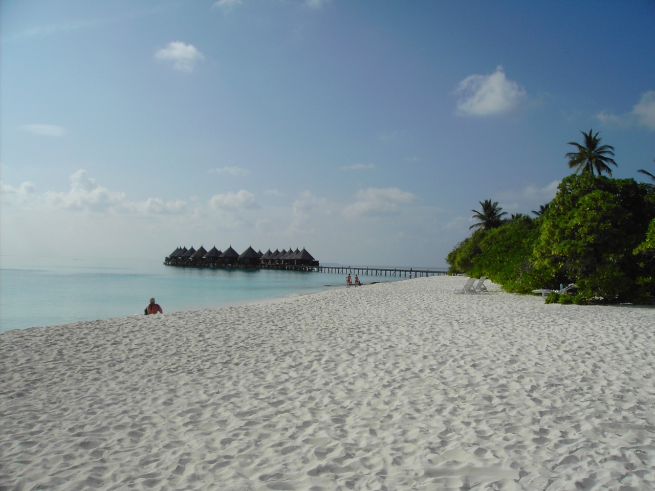
<path fill-rule="evenodd" d="M 299 251 L 271 249 L 262 253 L 248 247 L 242 253 L 236 252 L 232 246 L 221 252 L 216 246 L 206 250 L 202 245 L 194 249 L 193 245 L 178 247 L 164 260 L 167 266 L 187 266 L 195 268 L 274 268 L 274 269 L 310 269 L 318 267 L 318 261 L 307 252 L 305 247 Z"/>

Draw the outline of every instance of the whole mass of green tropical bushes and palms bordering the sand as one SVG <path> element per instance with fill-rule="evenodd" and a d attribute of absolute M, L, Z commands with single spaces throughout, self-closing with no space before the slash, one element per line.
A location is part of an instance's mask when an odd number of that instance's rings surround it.
<path fill-rule="evenodd" d="M 554 294 L 547 302 L 652 301 L 655 187 L 605 177 L 602 169 L 589 164 L 565 177 L 552 202 L 533 211 L 536 218 L 503 220 L 497 202 L 480 202 L 482 211 L 472 210 L 476 230 L 446 258 L 449 272 L 487 276 L 515 293 L 576 283 L 573 297 Z"/>

